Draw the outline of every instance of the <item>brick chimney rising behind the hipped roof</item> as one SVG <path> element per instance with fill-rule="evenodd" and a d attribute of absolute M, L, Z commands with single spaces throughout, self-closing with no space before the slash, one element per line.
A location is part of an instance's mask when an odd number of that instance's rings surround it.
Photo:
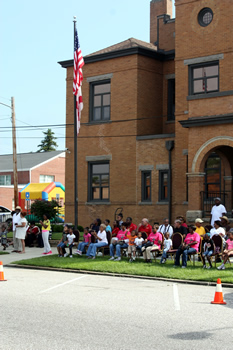
<path fill-rule="evenodd" d="M 151 0 L 150 2 L 150 43 L 157 42 L 157 17 L 169 15 L 172 18 L 172 0 Z"/>

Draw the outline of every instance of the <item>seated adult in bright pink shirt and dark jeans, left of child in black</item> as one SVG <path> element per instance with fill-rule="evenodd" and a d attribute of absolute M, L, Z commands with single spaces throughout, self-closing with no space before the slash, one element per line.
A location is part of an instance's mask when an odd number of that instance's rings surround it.
<path fill-rule="evenodd" d="M 197 253 L 200 244 L 200 236 L 195 232 L 196 227 L 190 225 L 184 243 L 176 252 L 175 267 L 180 266 L 180 256 L 182 255 L 182 268 L 187 267 L 188 254 Z"/>

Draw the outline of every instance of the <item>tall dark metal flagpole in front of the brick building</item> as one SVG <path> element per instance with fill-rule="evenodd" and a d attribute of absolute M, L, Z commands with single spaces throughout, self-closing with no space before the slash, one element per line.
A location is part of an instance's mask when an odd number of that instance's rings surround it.
<path fill-rule="evenodd" d="M 76 32 L 76 16 L 74 16 L 74 48 Z M 76 116 L 76 95 L 74 95 L 74 227 L 78 227 L 78 136 Z"/>

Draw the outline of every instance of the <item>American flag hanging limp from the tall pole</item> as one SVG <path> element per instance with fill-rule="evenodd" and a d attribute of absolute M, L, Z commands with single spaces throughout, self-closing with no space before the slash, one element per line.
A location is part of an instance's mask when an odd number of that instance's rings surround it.
<path fill-rule="evenodd" d="M 83 109 L 83 98 L 81 85 L 83 81 L 82 67 L 84 60 L 78 41 L 78 32 L 75 28 L 74 39 L 74 81 L 73 81 L 73 94 L 76 96 L 76 117 L 77 117 L 77 135 L 80 129 L 81 111 Z"/>

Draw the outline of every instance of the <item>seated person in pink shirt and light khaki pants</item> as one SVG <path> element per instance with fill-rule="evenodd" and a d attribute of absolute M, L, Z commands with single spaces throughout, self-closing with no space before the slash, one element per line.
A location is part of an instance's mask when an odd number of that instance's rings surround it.
<path fill-rule="evenodd" d="M 145 239 L 142 247 L 143 258 L 146 263 L 151 262 L 151 251 L 159 250 L 162 244 L 162 234 L 158 232 L 159 225 L 154 225 L 153 232 Z"/>

